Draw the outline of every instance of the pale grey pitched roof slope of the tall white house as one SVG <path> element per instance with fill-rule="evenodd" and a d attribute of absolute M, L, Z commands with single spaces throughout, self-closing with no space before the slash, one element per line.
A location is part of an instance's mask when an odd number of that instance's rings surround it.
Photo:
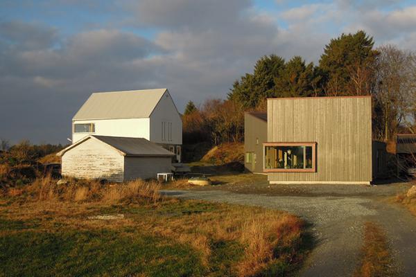
<path fill-rule="evenodd" d="M 166 90 L 92 93 L 72 120 L 148 118 Z"/>

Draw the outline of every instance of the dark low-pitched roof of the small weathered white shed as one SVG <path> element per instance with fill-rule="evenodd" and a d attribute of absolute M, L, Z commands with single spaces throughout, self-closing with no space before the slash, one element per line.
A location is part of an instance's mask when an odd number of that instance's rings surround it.
<path fill-rule="evenodd" d="M 172 152 L 162 148 L 155 143 L 148 141 L 147 139 L 142 138 L 125 138 L 121 136 L 96 136 L 96 135 L 89 135 L 86 136 L 84 139 L 80 139 L 76 143 L 69 145 L 64 150 L 58 152 L 58 156 L 62 156 L 68 150 L 80 145 L 84 141 L 88 139 L 97 139 L 98 141 L 102 141 L 107 145 L 112 146 L 117 151 L 120 152 L 123 156 L 141 156 L 141 157 L 173 157 L 175 154 Z"/>

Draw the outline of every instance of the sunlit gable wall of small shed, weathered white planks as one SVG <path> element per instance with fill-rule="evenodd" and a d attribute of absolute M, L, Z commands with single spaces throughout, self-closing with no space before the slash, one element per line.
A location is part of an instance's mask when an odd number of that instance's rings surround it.
<path fill-rule="evenodd" d="M 62 176 L 123 181 L 124 156 L 96 139 L 87 139 L 62 156 Z"/>

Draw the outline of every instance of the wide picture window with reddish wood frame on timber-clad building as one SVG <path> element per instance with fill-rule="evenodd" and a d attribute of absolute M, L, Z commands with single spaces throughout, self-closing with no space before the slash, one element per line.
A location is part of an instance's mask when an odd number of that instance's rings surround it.
<path fill-rule="evenodd" d="M 265 172 L 315 172 L 316 143 L 263 143 Z"/>

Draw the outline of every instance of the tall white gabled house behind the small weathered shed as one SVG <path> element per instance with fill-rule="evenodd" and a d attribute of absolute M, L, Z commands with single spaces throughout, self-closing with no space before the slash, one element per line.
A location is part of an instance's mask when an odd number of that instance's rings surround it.
<path fill-rule="evenodd" d="M 72 143 L 90 134 L 144 138 L 181 161 L 182 119 L 168 89 L 92 93 L 72 118 Z"/>

